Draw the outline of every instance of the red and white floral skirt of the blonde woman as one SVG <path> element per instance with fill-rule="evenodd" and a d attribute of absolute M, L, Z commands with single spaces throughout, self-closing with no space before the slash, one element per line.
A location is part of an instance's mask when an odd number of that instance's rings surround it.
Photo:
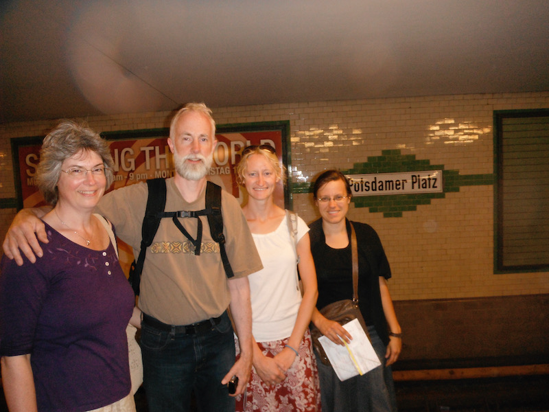
<path fill-rule="evenodd" d="M 288 339 L 257 343 L 265 356 L 270 358 L 284 349 Z M 240 347 L 235 337 L 237 357 Z M 236 398 L 237 412 L 318 412 L 320 411 L 320 385 L 316 359 L 309 330 L 299 344 L 299 356 L 286 372 L 286 378 L 276 386 L 266 385 L 252 367 L 252 374 L 246 392 Z"/>

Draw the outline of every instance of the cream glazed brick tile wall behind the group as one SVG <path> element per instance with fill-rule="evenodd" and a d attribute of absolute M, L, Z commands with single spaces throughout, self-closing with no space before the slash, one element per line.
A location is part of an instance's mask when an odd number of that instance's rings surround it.
<path fill-rule="evenodd" d="M 353 169 L 386 150 L 443 165 L 460 176 L 493 175 L 493 111 L 549 108 L 549 92 L 428 96 L 214 108 L 218 124 L 290 121 L 292 183 L 327 168 Z M 170 112 L 86 119 L 99 131 L 167 127 Z M 0 236 L 15 209 L 10 137 L 43 135 L 55 121 L 0 126 Z M 382 239 L 395 300 L 549 293 L 549 273 L 493 273 L 493 185 L 461 185 L 401 217 L 351 204 L 349 217 Z M 484 182 L 481 182 L 484 183 Z M 294 194 L 294 210 L 316 218 L 312 197 Z"/>

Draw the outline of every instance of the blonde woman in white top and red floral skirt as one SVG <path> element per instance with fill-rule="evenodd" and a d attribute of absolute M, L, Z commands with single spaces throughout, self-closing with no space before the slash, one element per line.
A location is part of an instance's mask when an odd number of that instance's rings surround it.
<path fill-rule="evenodd" d="M 320 411 L 318 373 L 308 329 L 317 297 L 309 229 L 296 217 L 294 240 L 286 211 L 274 203 L 274 190 L 284 173 L 272 146 L 245 148 L 237 165 L 237 179 L 248 193 L 242 210 L 264 268 L 248 276 L 255 341 L 253 369 L 246 392 L 237 397 L 236 410 Z M 236 347 L 238 351 L 239 345 Z"/>

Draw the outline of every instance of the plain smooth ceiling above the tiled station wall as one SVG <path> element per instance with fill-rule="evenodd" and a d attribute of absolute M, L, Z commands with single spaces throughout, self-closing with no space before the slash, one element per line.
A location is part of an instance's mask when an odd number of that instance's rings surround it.
<path fill-rule="evenodd" d="M 2 0 L 0 122 L 549 91 L 547 0 Z"/>

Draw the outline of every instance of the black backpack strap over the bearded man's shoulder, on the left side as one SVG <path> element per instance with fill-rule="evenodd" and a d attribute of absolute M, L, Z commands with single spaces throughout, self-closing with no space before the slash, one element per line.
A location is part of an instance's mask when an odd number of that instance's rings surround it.
<path fill-rule="evenodd" d="M 166 205 L 165 179 L 149 179 L 147 185 L 149 193 L 145 216 L 141 225 L 141 250 L 139 251 L 139 257 L 133 261 L 130 267 L 130 276 L 128 279 L 135 295 L 139 295 L 139 283 L 141 283 L 141 272 L 143 271 L 147 248 L 152 243 L 154 235 L 156 235 L 156 231 L 159 229 L 161 220 L 159 214 L 164 210 Z"/>

